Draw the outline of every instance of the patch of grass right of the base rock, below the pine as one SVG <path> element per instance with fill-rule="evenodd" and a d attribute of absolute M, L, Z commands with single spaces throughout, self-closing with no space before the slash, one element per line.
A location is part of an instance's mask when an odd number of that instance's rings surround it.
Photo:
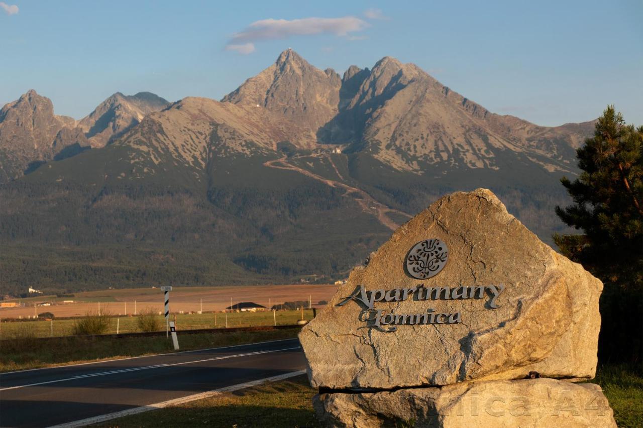
<path fill-rule="evenodd" d="M 638 368 L 599 366 L 592 382 L 601 386 L 619 427 L 643 427 L 643 368 L 640 365 Z"/>

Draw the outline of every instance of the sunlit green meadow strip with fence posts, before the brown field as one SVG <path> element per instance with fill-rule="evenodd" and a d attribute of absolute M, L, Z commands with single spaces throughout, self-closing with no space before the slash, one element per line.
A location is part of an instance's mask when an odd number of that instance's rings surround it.
<path fill-rule="evenodd" d="M 109 306 L 107 307 L 109 311 Z M 174 316 L 172 316 L 174 317 Z M 294 325 L 301 319 L 302 313 L 297 310 L 278 310 L 273 317 L 272 312 L 221 312 L 210 314 L 177 314 L 176 325 L 181 330 L 197 330 L 200 328 L 226 328 L 226 317 L 228 327 L 251 327 L 274 325 Z M 312 319 L 312 310 L 303 310 L 304 319 Z M 140 332 L 136 316 L 111 317 L 109 328 L 105 334 L 115 334 L 118 325 L 119 333 Z M 165 331 L 165 318 L 158 316 L 161 323 L 161 331 Z M 53 336 L 73 335 L 73 326 L 76 319 L 53 319 L 52 321 L 3 321 L 0 325 L 0 339 L 12 339 L 14 337 L 51 337 L 52 324 Z"/>

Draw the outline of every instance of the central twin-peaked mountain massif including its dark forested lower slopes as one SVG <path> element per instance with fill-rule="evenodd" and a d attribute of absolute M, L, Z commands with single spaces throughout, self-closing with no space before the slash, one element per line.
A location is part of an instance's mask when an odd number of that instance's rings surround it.
<path fill-rule="evenodd" d="M 184 98 L 105 147 L 0 186 L 0 238 L 20 251 L 73 244 L 90 260 L 109 245 L 132 256 L 151 247 L 162 260 L 214 254 L 246 272 L 238 281 L 341 277 L 440 195 L 485 186 L 550 241 L 562 227 L 553 207 L 567 202 L 559 176 L 573 174 L 591 129 L 493 114 L 394 58 L 340 78 L 285 51 L 221 102 Z M 100 274 L 125 286 L 167 272 L 166 262 L 143 264 L 128 280 Z M 87 269 L 98 268 L 82 264 L 79 275 Z M 170 282 L 225 283 L 192 274 L 203 269 Z"/>

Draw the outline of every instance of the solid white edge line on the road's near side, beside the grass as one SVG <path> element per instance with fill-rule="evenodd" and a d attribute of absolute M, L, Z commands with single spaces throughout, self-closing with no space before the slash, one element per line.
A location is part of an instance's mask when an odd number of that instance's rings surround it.
<path fill-rule="evenodd" d="M 237 384 L 232 386 L 226 386 L 224 388 L 213 389 L 212 391 L 188 395 L 187 397 L 174 398 L 174 400 L 168 400 L 156 404 L 149 404 L 148 406 L 134 407 L 134 409 L 122 410 L 120 412 L 107 413 L 107 415 L 93 416 L 92 418 L 81 419 L 73 422 L 67 422 L 66 424 L 54 425 L 50 428 L 78 428 L 84 427 L 86 425 L 100 424 L 107 420 L 122 418 L 123 416 L 136 415 L 138 413 L 147 412 L 150 410 L 163 409 L 163 407 L 168 406 L 177 406 L 179 404 L 187 403 L 194 400 L 201 400 L 202 398 L 213 397 L 224 392 L 238 391 L 239 389 L 249 388 L 264 382 L 276 382 L 277 380 L 288 379 L 289 377 L 294 377 L 298 375 L 303 375 L 306 373 L 305 370 L 291 371 L 291 373 L 285 373 L 284 375 L 278 375 L 273 377 L 267 377 L 266 379 L 251 380 L 244 384 Z"/>

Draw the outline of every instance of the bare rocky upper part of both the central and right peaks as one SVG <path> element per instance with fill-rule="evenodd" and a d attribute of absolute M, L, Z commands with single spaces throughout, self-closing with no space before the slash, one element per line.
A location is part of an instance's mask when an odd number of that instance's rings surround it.
<path fill-rule="evenodd" d="M 593 126 L 540 127 L 493 114 L 415 64 L 391 57 L 370 70 L 351 66 L 338 81 L 331 69 L 316 69 L 288 49 L 222 101 L 278 112 L 310 127 L 317 143 L 368 150 L 397 170 L 416 173 L 424 164 L 499 168 L 494 158 L 506 152 L 570 172 L 574 150 Z M 309 140 L 291 142 L 311 147 Z"/>

